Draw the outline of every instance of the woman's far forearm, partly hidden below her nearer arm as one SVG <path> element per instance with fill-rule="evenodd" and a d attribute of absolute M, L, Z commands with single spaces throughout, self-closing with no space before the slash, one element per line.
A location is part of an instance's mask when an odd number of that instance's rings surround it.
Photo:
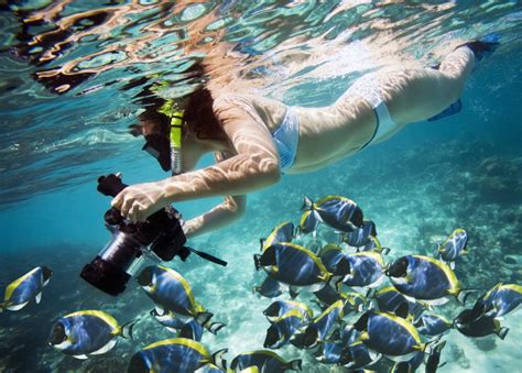
<path fill-rule="evenodd" d="M 247 196 L 227 196 L 210 211 L 186 221 L 183 230 L 187 238 L 217 230 L 241 218 L 246 208 Z"/>

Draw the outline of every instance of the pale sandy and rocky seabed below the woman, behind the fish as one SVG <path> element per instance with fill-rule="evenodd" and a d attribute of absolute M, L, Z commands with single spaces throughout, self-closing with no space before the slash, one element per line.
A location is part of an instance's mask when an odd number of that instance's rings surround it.
<path fill-rule="evenodd" d="M 450 142 L 439 147 L 417 146 L 387 157 L 356 157 L 318 174 L 285 177 L 280 186 L 249 200 L 241 222 L 191 242 L 194 248 L 227 260 L 226 268 L 198 257 L 170 265 L 187 278 L 196 299 L 215 314 L 213 320 L 227 325 L 217 336 L 206 333 L 203 342 L 210 351 L 228 348 L 230 362 L 240 352 L 261 349 L 269 327 L 261 311 L 271 300 L 251 292 L 263 279 L 252 261 L 252 254 L 259 251 L 259 239 L 283 220 L 297 223 L 304 195 L 313 199 L 342 195 L 356 200 L 365 217 L 377 223 L 382 244 L 392 249 L 387 261 L 405 253 L 429 254 L 454 229 L 465 228 L 469 254 L 457 262 L 456 274 L 465 287 L 486 292 L 499 282 L 522 283 L 522 265 L 507 259 L 511 255 L 522 263 L 521 175 L 520 154 L 496 155 L 489 142 Z M 0 316 L 0 371 L 124 371 L 140 348 L 174 337 L 149 315 L 152 301 L 134 281 L 126 294 L 115 298 L 79 278 L 83 265 L 102 244 L 89 248 L 35 243 L 15 255 L 1 254 L 2 286 L 35 265 L 50 266 L 54 275 L 40 305 Z M 444 314 L 455 317 L 460 306 L 452 300 L 443 307 Z M 45 340 L 56 318 L 79 309 L 108 311 L 120 323 L 139 319 L 134 340 L 120 340 L 110 352 L 87 361 L 47 347 Z M 496 336 L 469 339 L 452 330 L 445 337 L 447 344 L 441 361 L 447 364 L 441 372 L 520 370 L 520 315 L 519 310 L 505 316 L 502 326 L 510 331 L 504 340 Z M 303 359 L 305 372 L 344 371 L 322 365 L 292 345 L 276 352 L 286 359 Z"/>

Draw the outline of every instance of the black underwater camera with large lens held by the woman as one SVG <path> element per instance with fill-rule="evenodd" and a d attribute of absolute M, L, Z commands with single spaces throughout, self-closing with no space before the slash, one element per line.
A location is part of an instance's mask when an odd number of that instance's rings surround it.
<path fill-rule="evenodd" d="M 118 175 L 98 178 L 98 191 L 116 197 L 127 187 Z M 120 211 L 110 208 L 105 213 L 107 229 L 112 239 L 101 252 L 81 270 L 80 276 L 100 290 L 118 295 L 126 289 L 127 282 L 140 270 L 146 259 L 156 262 L 171 261 L 180 256 L 185 261 L 195 253 L 220 265 L 226 262 L 207 253 L 185 246 L 186 237 L 176 209 L 167 206 L 146 221 L 132 223 Z"/>

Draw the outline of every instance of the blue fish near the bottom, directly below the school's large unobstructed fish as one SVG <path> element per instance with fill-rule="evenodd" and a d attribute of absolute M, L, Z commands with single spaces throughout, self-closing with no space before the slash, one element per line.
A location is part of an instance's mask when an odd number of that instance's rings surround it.
<path fill-rule="evenodd" d="M 407 361 L 426 347 L 410 321 L 388 312 L 367 311 L 354 328 L 370 350 L 394 361 Z"/>

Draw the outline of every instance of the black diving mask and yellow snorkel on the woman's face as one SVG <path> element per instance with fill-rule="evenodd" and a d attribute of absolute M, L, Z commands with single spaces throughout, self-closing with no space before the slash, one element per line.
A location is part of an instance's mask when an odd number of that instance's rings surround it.
<path fill-rule="evenodd" d="M 171 171 L 172 175 L 182 173 L 182 127 L 184 110 L 176 110 L 173 100 L 167 100 L 159 110 L 170 118 L 168 140 L 163 134 L 145 135 L 146 143 L 142 150 L 157 160 L 163 171 Z"/>

